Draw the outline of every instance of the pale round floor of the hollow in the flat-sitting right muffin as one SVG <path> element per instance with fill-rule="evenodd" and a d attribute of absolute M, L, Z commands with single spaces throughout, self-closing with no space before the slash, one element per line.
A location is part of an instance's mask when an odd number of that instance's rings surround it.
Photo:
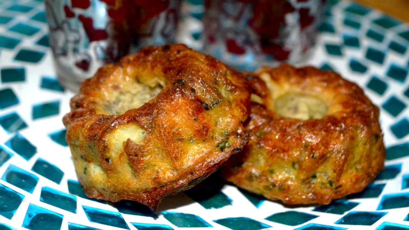
<path fill-rule="evenodd" d="M 321 119 L 328 113 L 324 101 L 299 92 L 288 92 L 278 97 L 274 109 L 283 117 L 300 120 Z"/>

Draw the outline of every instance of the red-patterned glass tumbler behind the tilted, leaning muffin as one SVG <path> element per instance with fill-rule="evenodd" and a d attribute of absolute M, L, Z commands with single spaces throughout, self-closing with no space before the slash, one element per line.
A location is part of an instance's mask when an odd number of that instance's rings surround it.
<path fill-rule="evenodd" d="M 45 0 L 49 41 L 62 86 L 146 45 L 173 43 L 181 0 Z"/>

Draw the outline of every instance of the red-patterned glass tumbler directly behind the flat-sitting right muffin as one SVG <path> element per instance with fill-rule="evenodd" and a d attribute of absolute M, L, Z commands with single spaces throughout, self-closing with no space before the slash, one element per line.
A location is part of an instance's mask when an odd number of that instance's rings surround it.
<path fill-rule="evenodd" d="M 254 70 L 308 57 L 325 0 L 206 0 L 203 50 Z"/>

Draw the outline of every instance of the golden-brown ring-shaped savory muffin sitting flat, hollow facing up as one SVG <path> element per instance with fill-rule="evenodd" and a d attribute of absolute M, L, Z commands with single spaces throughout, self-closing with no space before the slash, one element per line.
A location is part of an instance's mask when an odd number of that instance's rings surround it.
<path fill-rule="evenodd" d="M 290 65 L 248 78 L 253 135 L 223 167 L 226 180 L 287 204 L 328 204 L 384 168 L 379 110 L 355 83 Z"/>

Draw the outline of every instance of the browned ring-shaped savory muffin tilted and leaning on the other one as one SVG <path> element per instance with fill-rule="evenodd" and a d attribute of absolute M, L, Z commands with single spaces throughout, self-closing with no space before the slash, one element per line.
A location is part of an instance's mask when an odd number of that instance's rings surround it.
<path fill-rule="evenodd" d="M 185 45 L 146 47 L 106 65 L 63 118 L 85 194 L 155 210 L 243 149 L 249 102 L 239 72 Z"/>

